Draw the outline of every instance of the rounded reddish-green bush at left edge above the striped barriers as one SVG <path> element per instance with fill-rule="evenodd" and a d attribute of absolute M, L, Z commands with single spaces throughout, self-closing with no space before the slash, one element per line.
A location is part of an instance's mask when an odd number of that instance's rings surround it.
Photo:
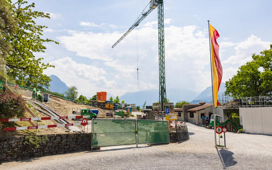
<path fill-rule="evenodd" d="M 21 95 L 0 94 L 0 118 L 22 118 L 24 112 L 25 103 Z"/>

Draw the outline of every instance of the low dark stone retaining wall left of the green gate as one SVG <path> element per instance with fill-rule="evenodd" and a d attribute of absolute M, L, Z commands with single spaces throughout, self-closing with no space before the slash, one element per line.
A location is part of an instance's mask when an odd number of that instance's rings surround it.
<path fill-rule="evenodd" d="M 90 150 L 91 146 L 91 133 L 38 135 L 38 137 L 42 136 L 47 136 L 48 140 L 46 143 L 40 144 L 40 147 L 37 149 L 31 145 L 24 144 L 26 136 L 1 137 L 0 163 Z"/>

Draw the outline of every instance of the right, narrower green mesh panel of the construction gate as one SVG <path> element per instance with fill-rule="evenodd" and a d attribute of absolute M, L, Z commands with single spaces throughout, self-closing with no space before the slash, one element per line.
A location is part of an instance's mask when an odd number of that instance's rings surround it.
<path fill-rule="evenodd" d="M 137 120 L 138 143 L 169 143 L 167 121 Z"/>

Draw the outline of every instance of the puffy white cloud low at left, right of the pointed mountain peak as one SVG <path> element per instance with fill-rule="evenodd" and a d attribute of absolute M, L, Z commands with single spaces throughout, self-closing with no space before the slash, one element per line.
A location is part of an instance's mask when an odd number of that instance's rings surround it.
<path fill-rule="evenodd" d="M 61 77 L 68 86 L 75 85 L 80 94 L 92 95 L 96 91 L 105 90 L 116 85 L 115 81 L 108 81 L 106 72 L 102 68 L 76 63 L 69 57 L 50 62 L 55 68 L 49 68 L 46 74 Z"/>

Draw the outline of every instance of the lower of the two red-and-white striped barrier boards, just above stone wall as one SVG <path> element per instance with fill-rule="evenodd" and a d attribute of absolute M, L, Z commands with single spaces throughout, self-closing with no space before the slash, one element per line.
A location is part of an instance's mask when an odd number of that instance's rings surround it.
<path fill-rule="evenodd" d="M 28 129 L 43 129 L 43 128 L 57 128 L 57 127 L 67 127 L 67 126 L 84 126 L 88 123 L 75 123 L 75 124 L 58 124 L 58 125 L 40 125 L 40 126 L 24 126 L 24 127 L 13 127 L 5 128 L 4 131 L 19 131 L 19 130 L 28 130 Z"/>

